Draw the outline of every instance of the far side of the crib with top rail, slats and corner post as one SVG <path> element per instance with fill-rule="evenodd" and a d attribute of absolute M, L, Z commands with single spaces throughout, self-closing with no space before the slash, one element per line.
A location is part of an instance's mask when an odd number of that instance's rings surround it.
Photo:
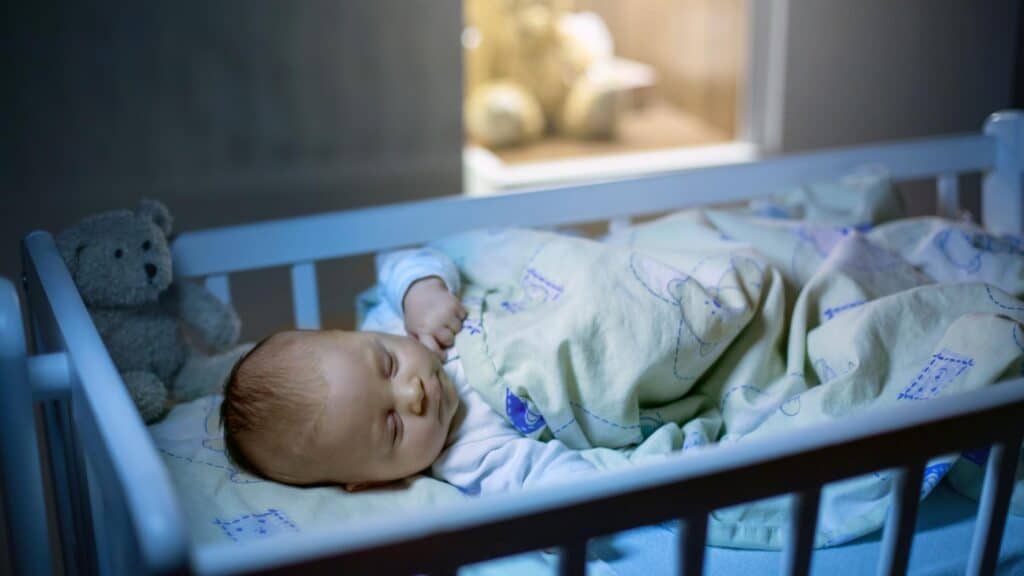
<path fill-rule="evenodd" d="M 487 198 L 450 197 L 188 232 L 173 245 L 178 278 L 205 278 L 230 301 L 228 275 L 290 266 L 295 326 L 318 328 L 316 262 L 420 244 L 487 227 L 551 227 L 607 220 L 711 203 L 749 200 L 809 181 L 881 165 L 896 180 L 934 178 L 938 214 L 961 215 L 959 175 L 983 172 L 983 223 L 1024 234 L 1024 116 L 993 114 L 984 133 L 833 150 L 752 163 L 690 168 L 622 180 L 523 191 Z"/>

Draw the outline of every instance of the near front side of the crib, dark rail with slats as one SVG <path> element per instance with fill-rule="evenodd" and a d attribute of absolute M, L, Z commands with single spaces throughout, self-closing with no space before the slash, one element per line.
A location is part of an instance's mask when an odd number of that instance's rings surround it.
<path fill-rule="evenodd" d="M 402 518 L 359 523 L 321 534 L 281 537 L 256 545 L 217 545 L 197 553 L 199 574 L 390 574 L 456 567 L 486 559 L 565 545 L 562 573 L 582 574 L 580 545 L 588 538 L 675 519 L 697 519 L 682 542 L 685 574 L 700 573 L 706 515 L 713 509 L 796 492 L 783 574 L 806 574 L 816 500 L 825 483 L 899 468 L 903 481 L 890 518 L 880 574 L 902 574 L 915 520 L 920 467 L 927 457 L 995 443 L 972 551 L 971 574 L 991 574 L 1024 433 L 1024 379 L 912 407 L 864 414 L 801 435 L 759 439 L 672 461 L 608 472 L 517 498 L 479 498 Z M 1001 447 L 1001 448 L 999 448 Z M 993 449 L 995 452 L 996 449 Z M 908 462 L 908 455 L 912 455 Z M 793 470 L 801 470 L 794 475 Z M 757 479 L 751 483 L 750 479 Z M 613 513 L 609 513 L 613 511 Z M 692 571 L 691 571 L 692 570 Z"/>

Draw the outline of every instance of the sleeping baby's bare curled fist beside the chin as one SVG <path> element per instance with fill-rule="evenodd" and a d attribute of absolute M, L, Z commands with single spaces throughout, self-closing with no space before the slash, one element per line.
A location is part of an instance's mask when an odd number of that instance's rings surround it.
<path fill-rule="evenodd" d="M 447 291 L 436 276 L 418 280 L 409 287 L 401 307 L 406 316 L 406 331 L 423 345 L 444 359 L 444 348 L 455 343 L 462 330 L 466 308 Z"/>

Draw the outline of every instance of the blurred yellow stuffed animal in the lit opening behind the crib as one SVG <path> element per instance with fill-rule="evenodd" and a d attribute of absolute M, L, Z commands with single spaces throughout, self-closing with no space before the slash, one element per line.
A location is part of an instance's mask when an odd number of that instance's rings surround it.
<path fill-rule="evenodd" d="M 596 14 L 573 18 L 581 14 L 571 14 L 565 0 L 467 0 L 465 6 L 465 123 L 475 141 L 501 148 L 545 131 L 614 135 L 621 89 L 613 75 L 601 73 L 611 42 Z M 579 34 L 581 28 L 599 32 Z M 587 41 L 595 37 L 604 40 Z"/>

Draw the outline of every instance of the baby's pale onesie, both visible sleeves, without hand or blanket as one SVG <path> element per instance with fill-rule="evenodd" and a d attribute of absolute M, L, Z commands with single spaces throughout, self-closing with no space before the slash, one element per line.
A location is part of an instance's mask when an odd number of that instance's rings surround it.
<path fill-rule="evenodd" d="M 442 252 L 422 248 L 380 254 L 377 278 L 383 302 L 367 314 L 359 329 L 404 335 L 401 301 L 406 291 L 417 280 L 431 276 L 459 293 L 459 271 Z M 461 422 L 453 421 L 444 450 L 430 468 L 432 476 L 475 495 L 566 482 L 595 470 L 561 442 L 524 438 L 492 410 L 469 385 L 455 348 L 447 351 L 444 372 L 455 383 L 460 410 L 465 412 Z"/>

